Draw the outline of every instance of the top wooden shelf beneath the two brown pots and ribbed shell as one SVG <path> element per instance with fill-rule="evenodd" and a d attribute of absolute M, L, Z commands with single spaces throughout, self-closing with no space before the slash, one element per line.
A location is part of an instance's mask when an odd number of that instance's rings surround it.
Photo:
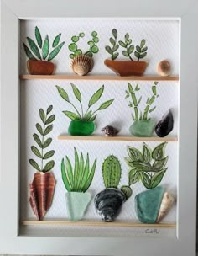
<path fill-rule="evenodd" d="M 160 76 L 131 76 L 120 77 L 117 75 L 20 75 L 21 80 L 110 80 L 110 81 L 178 81 L 178 76 L 160 77 Z"/>

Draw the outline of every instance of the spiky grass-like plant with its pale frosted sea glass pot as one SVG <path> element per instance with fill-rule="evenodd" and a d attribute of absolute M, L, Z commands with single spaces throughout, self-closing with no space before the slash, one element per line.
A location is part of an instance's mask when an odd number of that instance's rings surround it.
<path fill-rule="evenodd" d="M 75 165 L 72 168 L 69 157 L 62 159 L 61 173 L 65 189 L 67 215 L 70 221 L 79 221 L 84 216 L 87 206 L 91 201 L 89 189 L 96 170 L 96 159 L 90 168 L 89 154 L 84 161 L 83 154 L 78 155 L 75 148 Z"/>

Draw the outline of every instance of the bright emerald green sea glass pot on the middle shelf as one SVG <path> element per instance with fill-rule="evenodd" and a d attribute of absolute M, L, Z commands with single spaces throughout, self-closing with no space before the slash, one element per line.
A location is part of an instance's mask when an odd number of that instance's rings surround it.
<path fill-rule="evenodd" d="M 88 136 L 95 130 L 94 122 L 72 120 L 68 128 L 68 133 L 73 136 Z"/>

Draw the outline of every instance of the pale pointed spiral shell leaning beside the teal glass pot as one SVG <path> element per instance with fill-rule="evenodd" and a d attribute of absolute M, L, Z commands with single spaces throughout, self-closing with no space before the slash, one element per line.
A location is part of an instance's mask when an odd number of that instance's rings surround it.
<path fill-rule="evenodd" d="M 158 213 L 158 218 L 157 218 L 157 223 L 161 221 L 164 216 L 169 212 L 170 208 L 172 207 L 174 203 L 174 196 L 169 194 L 168 192 L 165 192 L 163 195 L 163 199 L 159 208 L 159 213 Z"/>

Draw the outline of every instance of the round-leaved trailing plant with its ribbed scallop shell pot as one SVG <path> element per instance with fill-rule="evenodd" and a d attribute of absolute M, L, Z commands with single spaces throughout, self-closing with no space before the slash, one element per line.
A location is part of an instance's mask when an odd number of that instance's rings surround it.
<path fill-rule="evenodd" d="M 82 50 L 78 47 L 77 42 L 85 36 L 85 33 L 81 32 L 79 35 L 73 35 L 71 37 L 72 43 L 68 46 L 70 53 L 70 66 L 76 74 L 79 76 L 85 76 L 88 72 L 91 72 L 94 66 L 93 55 L 99 51 L 96 45 L 99 42 L 96 31 L 91 32 L 92 40 L 89 40 L 89 50 L 86 53 L 82 53 Z"/>

